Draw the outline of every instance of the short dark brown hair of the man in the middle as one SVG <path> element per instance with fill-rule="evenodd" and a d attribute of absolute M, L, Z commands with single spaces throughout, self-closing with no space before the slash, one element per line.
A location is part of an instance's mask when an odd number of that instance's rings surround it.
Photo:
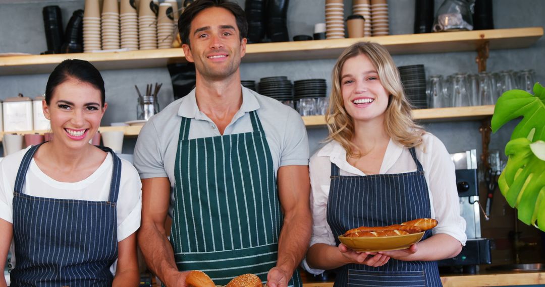
<path fill-rule="evenodd" d="M 204 9 L 212 7 L 227 9 L 229 12 L 233 13 L 240 32 L 240 41 L 247 37 L 248 22 L 246 21 L 246 14 L 237 3 L 228 0 L 197 0 L 184 10 L 184 13 L 180 15 L 178 20 L 181 43 L 190 45 L 189 32 L 191 30 L 191 21 L 193 21 L 193 18 Z"/>

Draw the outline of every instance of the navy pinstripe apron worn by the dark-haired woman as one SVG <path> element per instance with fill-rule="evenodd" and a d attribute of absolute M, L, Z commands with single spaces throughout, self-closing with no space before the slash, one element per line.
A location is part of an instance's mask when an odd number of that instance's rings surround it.
<path fill-rule="evenodd" d="M 99 147 L 113 159 L 107 202 L 25 195 L 28 166 L 40 145 L 28 149 L 17 172 L 13 197 L 17 262 L 11 286 L 111 286 L 121 161 L 110 148 Z"/>

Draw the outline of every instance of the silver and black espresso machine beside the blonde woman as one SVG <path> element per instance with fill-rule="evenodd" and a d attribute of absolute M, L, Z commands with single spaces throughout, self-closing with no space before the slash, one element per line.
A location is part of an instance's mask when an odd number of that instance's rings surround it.
<path fill-rule="evenodd" d="M 460 214 L 467 223 L 465 235 L 468 241 L 462 252 L 454 258 L 440 260 L 438 265 L 462 267 L 463 273 L 474 274 L 476 266 L 490 264 L 490 239 L 481 238 L 481 210 L 479 181 L 477 180 L 477 151 L 471 149 L 451 154 L 456 167 L 456 187 Z"/>

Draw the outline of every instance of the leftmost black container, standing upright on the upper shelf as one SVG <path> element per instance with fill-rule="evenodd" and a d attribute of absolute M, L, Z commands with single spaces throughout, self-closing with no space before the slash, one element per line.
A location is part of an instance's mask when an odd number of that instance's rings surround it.
<path fill-rule="evenodd" d="M 46 6 L 42 10 L 44 16 L 45 40 L 47 42 L 46 54 L 60 53 L 60 47 L 64 43 L 63 17 L 57 5 Z"/>

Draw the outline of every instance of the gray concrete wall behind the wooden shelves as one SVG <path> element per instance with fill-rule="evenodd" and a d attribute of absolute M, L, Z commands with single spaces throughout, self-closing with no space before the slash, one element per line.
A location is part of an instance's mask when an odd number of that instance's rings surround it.
<path fill-rule="evenodd" d="M 237 0 L 244 5 L 244 0 Z M 435 9 L 442 0 L 435 0 Z M 45 51 L 46 42 L 41 9 L 46 5 L 59 5 L 63 11 L 63 22 L 66 24 L 72 11 L 83 9 L 82 0 L 64 1 L 5 1 L 0 0 L 0 53 L 23 52 L 38 54 Z M 290 36 L 312 34 L 314 23 L 324 21 L 325 0 L 292 0 L 289 3 L 288 30 Z M 345 1 L 349 8 L 351 1 Z M 345 9 L 349 14 L 350 9 Z M 389 3 L 390 33 L 411 34 L 414 21 L 414 1 L 395 0 Z M 495 0 L 494 24 L 496 28 L 545 26 L 543 17 L 535 11 L 545 11 L 545 2 L 541 0 Z M 533 68 L 536 80 L 545 78 L 545 40 L 540 39 L 536 45 L 527 49 L 490 51 L 489 71 L 520 70 Z M 476 72 L 476 52 L 436 53 L 396 55 L 394 60 L 398 66 L 424 64 L 426 74 L 448 75 L 455 72 Z M 325 78 L 330 84 L 331 68 L 335 60 L 281 61 L 268 63 L 243 63 L 241 76 L 243 79 L 259 80 L 268 76 L 288 76 L 291 80 L 308 78 Z M 108 111 L 102 121 L 103 125 L 111 122 L 123 122 L 136 119 L 136 93 L 134 85 L 146 83 L 164 83 L 160 92 L 160 105 L 165 107 L 172 101 L 172 86 L 168 71 L 165 68 L 149 68 L 134 70 L 103 71 L 106 82 L 106 98 Z M 26 96 L 37 96 L 43 93 L 47 74 L 0 76 L 0 99 L 23 93 Z M 479 121 L 428 123 L 426 128 L 439 136 L 450 152 L 476 148 L 481 151 L 481 138 L 478 132 Z M 492 136 L 490 148 L 503 149 L 514 125 L 506 126 L 499 134 Z M 319 147 L 325 138 L 325 128 L 309 128 L 311 151 Z M 131 152 L 134 140 L 126 141 L 124 152 Z"/>

